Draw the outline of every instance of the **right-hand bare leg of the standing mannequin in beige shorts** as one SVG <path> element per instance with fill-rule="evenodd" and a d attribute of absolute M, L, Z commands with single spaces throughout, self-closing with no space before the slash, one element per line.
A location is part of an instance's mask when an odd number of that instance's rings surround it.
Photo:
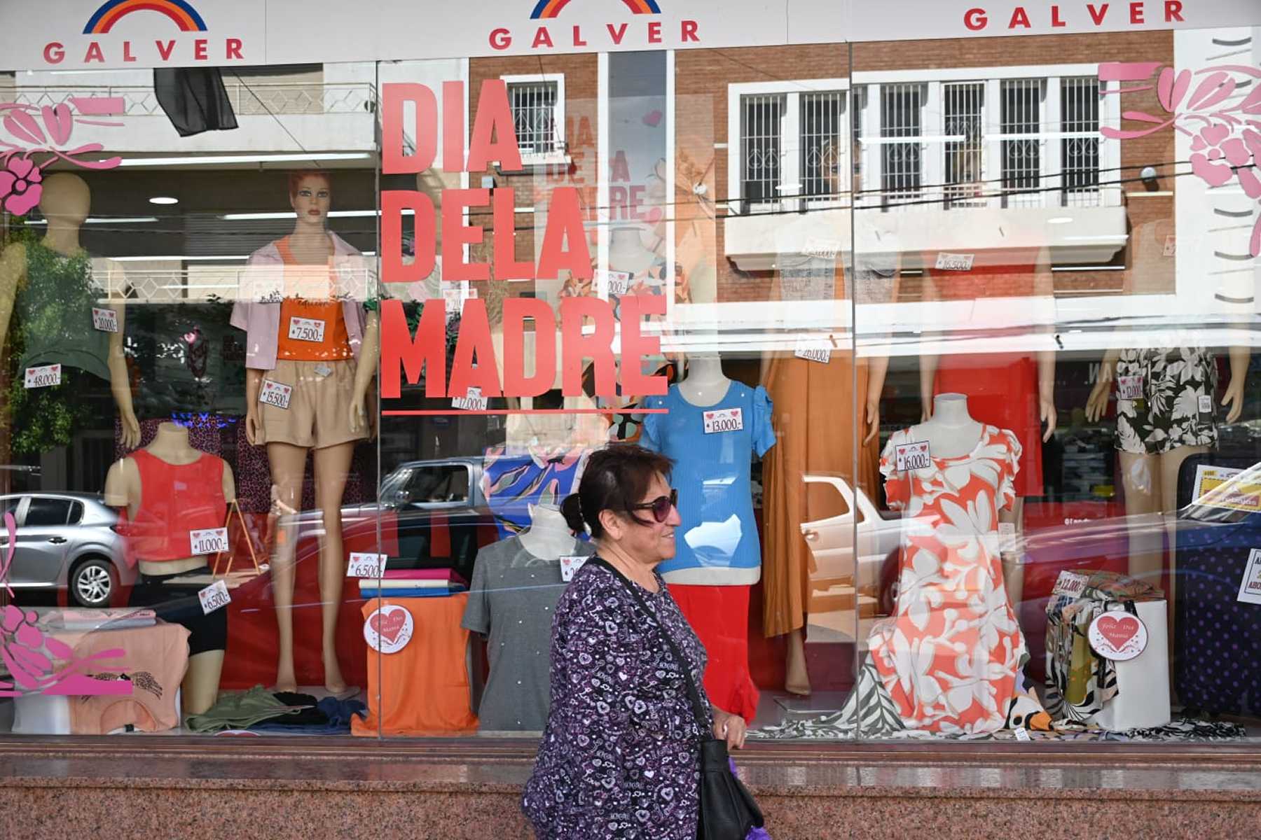
<path fill-rule="evenodd" d="M 342 608 L 346 554 L 342 550 L 342 494 L 351 468 L 354 443 L 315 450 L 315 505 L 324 514 L 324 539 L 319 547 L 319 599 L 324 618 L 324 688 L 334 694 L 346 690 L 337 661 L 337 613 Z"/>

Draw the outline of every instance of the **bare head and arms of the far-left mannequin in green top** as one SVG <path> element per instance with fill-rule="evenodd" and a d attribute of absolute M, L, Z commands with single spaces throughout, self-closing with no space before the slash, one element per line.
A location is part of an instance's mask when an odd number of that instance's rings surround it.
<path fill-rule="evenodd" d="M 73 173 L 54 173 L 43 181 L 39 196 L 39 212 L 48 222 L 42 244 L 64 257 L 76 257 L 83 252 L 79 244 L 79 229 L 87 219 L 92 205 L 92 191 L 87 183 Z M 14 301 L 18 290 L 26 278 L 26 248 L 21 243 L 11 244 L 0 253 L 0 346 L 4 346 L 9 334 L 9 321 L 13 317 Z M 119 417 L 122 421 L 122 446 L 132 450 L 140 443 L 140 423 L 131 406 L 131 384 L 127 379 L 127 363 L 122 353 L 122 306 L 112 304 L 119 314 L 119 331 L 110 334 L 110 390 L 113 393 Z M 84 329 L 91 329 L 86 325 Z"/>

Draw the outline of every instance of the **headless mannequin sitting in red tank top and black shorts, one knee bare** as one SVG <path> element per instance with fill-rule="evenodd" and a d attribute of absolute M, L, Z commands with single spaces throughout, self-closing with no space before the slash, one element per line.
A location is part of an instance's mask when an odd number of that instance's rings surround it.
<path fill-rule="evenodd" d="M 221 486 L 204 486 L 202 480 L 216 475 Z M 163 505 L 164 499 L 173 504 Z M 160 617 L 193 633 L 193 655 L 183 683 L 185 714 L 200 714 L 214 705 L 223 670 L 227 611 L 202 615 L 195 592 L 208 583 L 200 574 L 209 572 L 207 555 L 178 557 L 178 549 L 192 548 L 189 530 L 222 528 L 226 505 L 235 499 L 232 468 L 194 450 L 188 429 L 175 423 L 161 423 L 153 443 L 116 461 L 105 477 L 105 504 L 126 509 L 129 550 L 139 559 L 141 579 L 131 591 L 131 606 L 155 607 Z M 197 579 L 185 583 L 182 577 Z"/>

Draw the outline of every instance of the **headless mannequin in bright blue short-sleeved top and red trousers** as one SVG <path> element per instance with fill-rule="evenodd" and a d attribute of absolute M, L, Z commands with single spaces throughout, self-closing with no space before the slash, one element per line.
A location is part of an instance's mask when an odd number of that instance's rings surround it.
<path fill-rule="evenodd" d="M 644 417 L 641 446 L 673 460 L 678 491 L 676 552 L 658 572 L 709 652 L 710 699 L 752 720 L 758 689 L 749 674 L 749 591 L 762 577 L 762 547 L 750 465 L 776 443 L 770 398 L 762 387 L 731 382 L 719 355 L 702 353 L 681 383 L 643 404 L 666 409 Z"/>

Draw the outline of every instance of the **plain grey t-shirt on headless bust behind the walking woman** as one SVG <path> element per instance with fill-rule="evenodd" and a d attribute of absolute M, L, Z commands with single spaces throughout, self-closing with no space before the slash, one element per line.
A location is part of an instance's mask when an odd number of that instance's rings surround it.
<path fill-rule="evenodd" d="M 595 549 L 576 542 L 571 554 Z M 542 732 L 547 724 L 551 621 L 565 586 L 560 560 L 535 557 L 516 536 L 477 553 L 460 626 L 488 637 L 480 729 Z"/>

